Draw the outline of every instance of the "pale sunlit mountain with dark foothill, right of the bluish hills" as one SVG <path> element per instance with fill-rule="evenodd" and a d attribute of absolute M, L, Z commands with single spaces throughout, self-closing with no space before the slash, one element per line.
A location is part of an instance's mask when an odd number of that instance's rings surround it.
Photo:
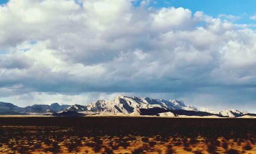
<path fill-rule="evenodd" d="M 181 110 L 177 112 L 178 110 Z M 184 101 L 170 99 L 153 99 L 150 97 L 128 97 L 122 94 L 113 100 L 97 100 L 87 106 L 73 105 L 66 111 L 77 111 L 87 115 L 195 115 L 195 116 L 221 116 L 237 117 L 244 113 L 237 110 L 211 111 L 205 108 L 196 108 L 186 105 Z M 186 112 L 185 112 L 186 111 Z M 189 112 L 193 111 L 193 112 Z"/>

